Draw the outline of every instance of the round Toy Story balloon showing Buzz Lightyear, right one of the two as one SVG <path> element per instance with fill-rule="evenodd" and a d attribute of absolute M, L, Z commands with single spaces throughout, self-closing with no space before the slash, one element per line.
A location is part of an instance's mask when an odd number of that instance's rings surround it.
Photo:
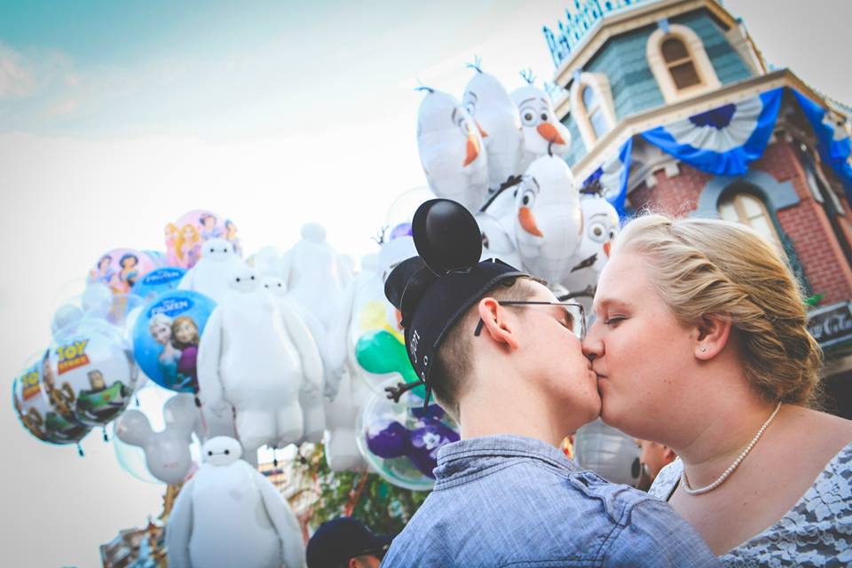
<path fill-rule="evenodd" d="M 136 388 L 136 369 L 113 335 L 79 333 L 54 343 L 42 372 L 44 391 L 59 414 L 87 426 L 122 414 Z"/>

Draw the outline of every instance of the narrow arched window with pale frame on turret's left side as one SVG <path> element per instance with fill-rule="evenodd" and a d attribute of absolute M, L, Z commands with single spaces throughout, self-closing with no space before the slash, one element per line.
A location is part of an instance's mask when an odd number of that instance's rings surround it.
<path fill-rule="evenodd" d="M 615 106 L 606 75 L 581 73 L 571 86 L 571 107 L 588 150 L 615 126 Z"/>

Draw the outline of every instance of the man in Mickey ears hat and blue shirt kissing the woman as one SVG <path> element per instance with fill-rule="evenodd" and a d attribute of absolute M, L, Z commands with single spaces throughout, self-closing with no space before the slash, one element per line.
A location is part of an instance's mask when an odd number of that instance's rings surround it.
<path fill-rule="evenodd" d="M 418 256 L 390 272 L 385 296 L 401 312 L 420 383 L 389 392 L 422 384 L 423 404 L 434 396 L 461 440 L 438 448 L 434 489 L 383 568 L 721 565 L 667 503 L 559 449 L 601 409 L 580 347 L 582 306 L 509 264 L 481 261 L 477 222 L 455 201 L 422 203 L 412 236 Z"/>

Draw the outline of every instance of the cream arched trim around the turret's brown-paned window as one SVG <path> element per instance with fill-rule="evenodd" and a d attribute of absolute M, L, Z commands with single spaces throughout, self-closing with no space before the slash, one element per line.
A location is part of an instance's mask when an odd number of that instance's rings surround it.
<path fill-rule="evenodd" d="M 701 83 L 681 90 L 678 90 L 675 86 L 675 80 L 668 70 L 666 59 L 663 59 L 663 42 L 672 37 L 681 40 L 683 45 L 686 46 Z M 687 26 L 671 24 L 667 31 L 664 31 L 663 28 L 657 28 L 648 38 L 645 57 L 648 59 L 648 66 L 651 67 L 651 73 L 657 79 L 659 90 L 663 93 L 663 98 L 666 99 L 667 104 L 707 91 L 714 91 L 722 86 L 710 58 L 707 57 L 704 43 L 698 37 L 698 34 Z"/>

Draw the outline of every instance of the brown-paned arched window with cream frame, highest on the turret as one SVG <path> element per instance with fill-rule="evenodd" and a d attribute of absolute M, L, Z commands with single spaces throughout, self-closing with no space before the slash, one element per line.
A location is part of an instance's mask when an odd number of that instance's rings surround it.
<path fill-rule="evenodd" d="M 646 57 L 667 104 L 722 86 L 704 43 L 687 26 L 657 29 L 648 38 Z"/>

